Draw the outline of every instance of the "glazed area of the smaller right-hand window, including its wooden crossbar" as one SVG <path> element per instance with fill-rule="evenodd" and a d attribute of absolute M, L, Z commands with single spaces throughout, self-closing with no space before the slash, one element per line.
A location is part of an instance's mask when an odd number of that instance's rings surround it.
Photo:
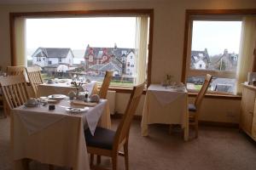
<path fill-rule="evenodd" d="M 234 94 L 239 60 L 241 19 L 196 16 L 190 21 L 191 46 L 187 55 L 186 84 L 201 89 L 207 73 L 213 76 L 208 92 Z"/>

